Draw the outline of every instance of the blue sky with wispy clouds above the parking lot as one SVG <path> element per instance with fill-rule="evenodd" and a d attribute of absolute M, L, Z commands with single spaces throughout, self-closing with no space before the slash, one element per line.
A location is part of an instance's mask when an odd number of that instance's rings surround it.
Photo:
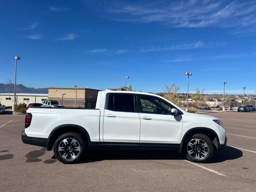
<path fill-rule="evenodd" d="M 256 1 L 1 1 L 0 82 L 256 90 Z"/>

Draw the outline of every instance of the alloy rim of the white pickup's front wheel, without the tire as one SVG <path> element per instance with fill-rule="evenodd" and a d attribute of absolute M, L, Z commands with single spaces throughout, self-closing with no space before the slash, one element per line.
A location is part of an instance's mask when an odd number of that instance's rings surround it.
<path fill-rule="evenodd" d="M 203 159 L 208 154 L 208 145 L 201 139 L 192 139 L 188 142 L 187 152 L 195 159 Z"/>

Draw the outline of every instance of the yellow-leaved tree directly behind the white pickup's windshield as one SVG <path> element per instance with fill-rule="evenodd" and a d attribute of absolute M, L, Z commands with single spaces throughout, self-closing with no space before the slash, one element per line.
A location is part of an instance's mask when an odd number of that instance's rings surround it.
<path fill-rule="evenodd" d="M 164 98 L 178 105 L 181 103 L 182 99 L 178 95 L 178 90 L 180 90 L 180 86 L 176 86 L 175 84 L 171 84 L 171 86 L 166 85 L 164 89 Z"/>

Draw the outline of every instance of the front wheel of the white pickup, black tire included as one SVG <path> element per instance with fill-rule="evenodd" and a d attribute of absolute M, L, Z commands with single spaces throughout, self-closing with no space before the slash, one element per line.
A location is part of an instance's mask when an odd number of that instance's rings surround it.
<path fill-rule="evenodd" d="M 199 140 L 199 142 L 196 142 L 195 144 L 194 142 L 195 140 Z M 189 145 L 190 142 L 195 144 L 194 148 L 191 147 L 191 145 Z M 201 134 L 201 133 L 194 134 L 192 137 L 186 140 L 185 144 L 186 145 L 184 146 L 184 155 L 187 158 L 187 160 L 191 162 L 196 162 L 196 163 L 205 163 L 212 158 L 212 155 L 214 153 L 214 147 L 210 138 L 205 134 Z M 207 146 L 207 147 L 200 147 L 200 144 L 201 146 Z M 196 146 L 198 146 L 199 148 L 198 153 L 196 152 Z"/>

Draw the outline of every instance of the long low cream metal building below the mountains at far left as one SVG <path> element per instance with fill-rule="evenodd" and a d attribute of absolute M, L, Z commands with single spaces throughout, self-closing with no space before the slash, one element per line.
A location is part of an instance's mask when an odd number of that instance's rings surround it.
<path fill-rule="evenodd" d="M 34 93 L 16 93 L 17 104 L 25 103 L 42 103 L 48 99 L 48 94 L 34 94 Z M 5 106 L 14 105 L 13 93 L 0 93 L 0 103 Z"/>

